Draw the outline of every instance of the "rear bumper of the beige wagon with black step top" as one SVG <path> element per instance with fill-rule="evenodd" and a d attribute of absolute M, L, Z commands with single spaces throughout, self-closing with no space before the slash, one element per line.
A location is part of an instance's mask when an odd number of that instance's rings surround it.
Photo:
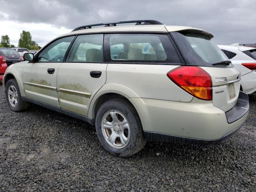
<path fill-rule="evenodd" d="M 240 96 L 242 95 L 242 96 Z M 248 104 L 248 96 L 240 92 L 238 104 Z M 211 101 L 193 98 L 191 102 L 172 102 L 130 98 L 142 122 L 149 141 L 168 141 L 186 144 L 216 144 L 236 132 L 246 121 L 248 108 L 231 119 Z M 239 106 L 232 110 L 238 111 Z M 236 110 L 235 110 L 236 109 Z M 230 112 L 231 114 L 231 112 Z"/>

